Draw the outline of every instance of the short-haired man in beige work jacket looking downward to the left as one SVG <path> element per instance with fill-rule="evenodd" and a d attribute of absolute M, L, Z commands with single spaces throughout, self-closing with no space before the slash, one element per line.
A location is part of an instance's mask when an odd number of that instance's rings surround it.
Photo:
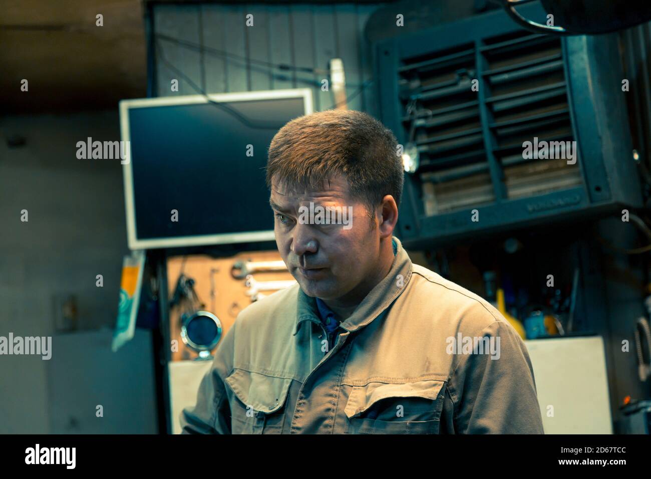
<path fill-rule="evenodd" d="M 267 182 L 298 285 L 240 312 L 180 416 L 184 433 L 543 432 L 515 330 L 413 265 L 393 237 L 396 152 L 393 134 L 359 111 L 279 130 Z"/>

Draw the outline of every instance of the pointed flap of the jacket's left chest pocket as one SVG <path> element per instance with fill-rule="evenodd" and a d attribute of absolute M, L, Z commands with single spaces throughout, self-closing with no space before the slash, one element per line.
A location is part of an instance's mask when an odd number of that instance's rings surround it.
<path fill-rule="evenodd" d="M 246 407 L 255 411 L 274 413 L 283 407 L 291 378 L 268 376 L 253 371 L 236 369 L 225 379 L 235 396 Z"/>

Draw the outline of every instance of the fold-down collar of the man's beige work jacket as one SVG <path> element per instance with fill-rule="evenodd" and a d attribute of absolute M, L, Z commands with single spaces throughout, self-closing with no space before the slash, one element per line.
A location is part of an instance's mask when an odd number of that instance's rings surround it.
<path fill-rule="evenodd" d="M 353 314 L 342 321 L 340 327 L 347 331 L 356 331 L 363 328 L 373 321 L 381 312 L 383 312 L 389 304 L 395 300 L 402 291 L 404 291 L 409 279 L 413 265 L 409 255 L 402 248 L 402 243 L 396 237 L 393 237 L 396 242 L 396 255 L 393 257 L 391 269 L 383 280 L 375 285 L 368 295 L 357 306 Z M 296 329 L 294 335 L 298 333 L 301 324 L 305 321 L 313 321 L 320 323 L 320 315 L 316 299 L 309 297 L 303 290 L 298 288 L 298 305 L 296 310 Z"/>

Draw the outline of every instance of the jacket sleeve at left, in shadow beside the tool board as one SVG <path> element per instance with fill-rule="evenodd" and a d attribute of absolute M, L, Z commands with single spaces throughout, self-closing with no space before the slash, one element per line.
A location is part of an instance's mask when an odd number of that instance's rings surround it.
<path fill-rule="evenodd" d="M 212 367 L 201 380 L 197 403 L 179 418 L 182 434 L 230 434 L 230 405 L 224 383 L 232 370 L 235 324 L 215 350 Z"/>

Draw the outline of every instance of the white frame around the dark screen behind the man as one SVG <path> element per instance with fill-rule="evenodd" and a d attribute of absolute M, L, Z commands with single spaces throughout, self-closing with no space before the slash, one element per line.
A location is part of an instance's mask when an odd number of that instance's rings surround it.
<path fill-rule="evenodd" d="M 312 90 L 309 88 L 241 91 L 235 93 L 215 93 L 207 95 L 214 102 L 238 102 L 250 100 L 273 100 L 276 98 L 303 98 L 304 114 L 312 113 L 314 103 Z M 241 233 L 220 233 L 217 235 L 197 235 L 176 238 L 139 239 L 135 225 L 135 201 L 133 197 L 133 170 L 131 161 L 131 132 L 129 126 L 129 110 L 132 108 L 147 108 L 152 106 L 190 105 L 208 103 L 202 94 L 186 96 L 165 96 L 160 98 L 138 98 L 121 100 L 120 136 L 125 141 L 125 156 L 122 164 L 124 178 L 124 207 L 126 209 L 127 242 L 130 250 L 145 250 L 154 248 L 174 248 L 182 246 L 202 246 L 207 244 L 232 244 L 239 242 L 273 241 L 273 229 L 266 231 L 245 231 Z"/>

